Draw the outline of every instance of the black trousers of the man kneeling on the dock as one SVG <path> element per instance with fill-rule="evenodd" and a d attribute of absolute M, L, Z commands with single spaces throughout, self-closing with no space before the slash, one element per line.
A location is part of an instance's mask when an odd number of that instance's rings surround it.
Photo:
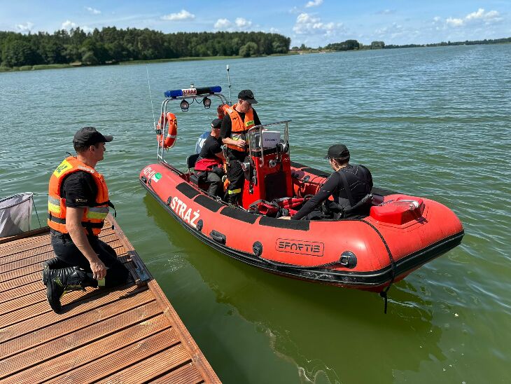
<path fill-rule="evenodd" d="M 87 239 L 99 259 L 108 268 L 106 270 L 105 287 L 116 287 L 117 285 L 124 284 L 129 276 L 129 271 L 117 258 L 116 251 L 106 242 L 99 240 L 99 238 L 88 236 Z M 80 249 L 76 247 L 69 235 L 52 234 L 52 247 L 60 261 L 64 261 L 69 266 L 83 268 L 87 273 L 91 273 L 92 276 L 89 261 L 83 256 Z"/>

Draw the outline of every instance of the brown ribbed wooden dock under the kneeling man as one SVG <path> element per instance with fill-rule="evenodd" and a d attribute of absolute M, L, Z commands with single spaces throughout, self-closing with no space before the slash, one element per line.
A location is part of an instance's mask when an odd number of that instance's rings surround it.
<path fill-rule="evenodd" d="M 0 239 L 0 383 L 220 383 L 111 216 L 100 238 L 137 284 L 71 292 L 53 313 L 41 281 L 49 229 Z M 114 226 L 111 229 L 111 226 Z"/>

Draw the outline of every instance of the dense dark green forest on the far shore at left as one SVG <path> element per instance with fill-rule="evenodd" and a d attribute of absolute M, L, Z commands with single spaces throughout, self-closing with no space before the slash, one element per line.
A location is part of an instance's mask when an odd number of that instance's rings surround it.
<path fill-rule="evenodd" d="M 104 27 L 85 32 L 79 27 L 48 34 L 0 32 L 0 65 L 110 64 L 130 60 L 179 57 L 243 57 L 288 53 L 290 39 L 265 32 L 178 32 Z"/>

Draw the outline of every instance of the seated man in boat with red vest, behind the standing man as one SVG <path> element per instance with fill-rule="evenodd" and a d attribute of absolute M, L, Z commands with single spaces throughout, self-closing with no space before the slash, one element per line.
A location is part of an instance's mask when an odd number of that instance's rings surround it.
<path fill-rule="evenodd" d="M 211 122 L 211 133 L 202 144 L 200 158 L 195 163 L 198 176 L 209 183 L 208 193 L 213 196 L 223 196 L 223 151 L 220 138 L 220 118 Z"/>

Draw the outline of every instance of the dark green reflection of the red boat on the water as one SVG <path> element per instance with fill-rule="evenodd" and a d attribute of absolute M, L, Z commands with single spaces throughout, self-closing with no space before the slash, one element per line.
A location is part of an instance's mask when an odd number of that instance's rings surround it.
<path fill-rule="evenodd" d="M 435 345 L 442 329 L 431 323 L 430 303 L 410 284 L 391 289 L 389 313 L 382 315 L 378 294 L 293 280 L 247 266 L 202 244 L 149 194 L 144 203 L 148 215 L 183 254 L 166 268 L 169 278 L 176 265 L 190 263 L 216 301 L 230 308 L 227 314 L 241 316 L 265 334 L 276 354 L 297 366 L 302 381 L 371 381 L 374 373 L 364 366 L 373 359 L 407 370 L 419 369 L 423 360 L 445 359 Z M 394 361 L 395 345 L 409 345 L 413 359 Z M 385 382 L 393 380 L 391 370 L 380 373 Z"/>

